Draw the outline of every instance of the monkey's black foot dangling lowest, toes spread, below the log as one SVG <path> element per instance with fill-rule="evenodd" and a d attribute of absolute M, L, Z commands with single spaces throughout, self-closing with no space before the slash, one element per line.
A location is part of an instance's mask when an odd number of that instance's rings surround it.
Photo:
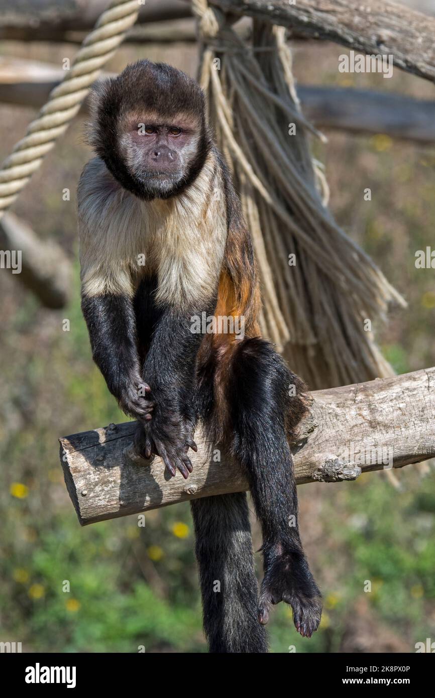
<path fill-rule="evenodd" d="M 296 561 L 291 554 L 274 558 L 261 584 L 258 621 L 267 623 L 270 607 L 280 601 L 292 607 L 297 632 L 311 637 L 320 623 L 322 599 L 304 558 Z"/>

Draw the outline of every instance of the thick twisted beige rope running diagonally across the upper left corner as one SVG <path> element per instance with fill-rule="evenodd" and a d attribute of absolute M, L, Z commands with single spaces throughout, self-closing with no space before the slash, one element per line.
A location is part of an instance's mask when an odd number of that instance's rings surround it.
<path fill-rule="evenodd" d="M 135 23 L 139 9 L 138 0 L 113 0 L 95 29 L 84 39 L 64 80 L 51 91 L 47 104 L 1 166 L 0 216 L 38 170 L 57 138 L 65 133 L 101 68 L 115 54 L 126 31 Z"/>

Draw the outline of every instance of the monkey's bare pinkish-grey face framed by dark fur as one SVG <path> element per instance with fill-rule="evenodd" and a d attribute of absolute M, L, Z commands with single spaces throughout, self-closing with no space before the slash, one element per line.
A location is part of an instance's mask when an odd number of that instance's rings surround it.
<path fill-rule="evenodd" d="M 128 116 L 119 126 L 121 157 L 145 198 L 168 198 L 187 179 L 198 153 L 200 123 L 188 114 Z"/>

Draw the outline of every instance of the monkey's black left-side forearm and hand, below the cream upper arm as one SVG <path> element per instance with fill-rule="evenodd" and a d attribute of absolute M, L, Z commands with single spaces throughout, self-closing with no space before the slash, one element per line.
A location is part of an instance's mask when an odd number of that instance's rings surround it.
<path fill-rule="evenodd" d="M 149 419 L 149 386 L 140 375 L 133 305 L 117 295 L 82 295 L 82 311 L 92 356 L 121 410 L 135 419 Z"/>

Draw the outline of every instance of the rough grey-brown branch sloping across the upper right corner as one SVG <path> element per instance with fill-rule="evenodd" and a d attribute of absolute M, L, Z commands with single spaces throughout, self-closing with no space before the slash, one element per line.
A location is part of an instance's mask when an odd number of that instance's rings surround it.
<path fill-rule="evenodd" d="M 391 0 L 210 0 L 226 12 L 281 24 L 366 54 L 392 54 L 393 64 L 435 79 L 435 18 Z"/>

